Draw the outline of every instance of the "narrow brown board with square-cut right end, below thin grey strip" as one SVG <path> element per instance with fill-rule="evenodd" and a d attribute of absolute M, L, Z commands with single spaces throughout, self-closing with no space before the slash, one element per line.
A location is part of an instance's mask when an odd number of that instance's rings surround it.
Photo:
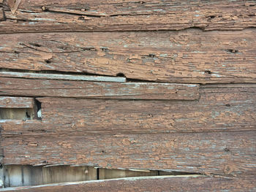
<path fill-rule="evenodd" d="M 157 82 L 91 82 L 44 79 L 33 80 L 23 78 L 4 78 L 1 77 L 1 74 L 0 82 L 0 95 L 10 96 L 56 96 L 157 100 L 199 99 L 199 85 L 194 84 Z"/>

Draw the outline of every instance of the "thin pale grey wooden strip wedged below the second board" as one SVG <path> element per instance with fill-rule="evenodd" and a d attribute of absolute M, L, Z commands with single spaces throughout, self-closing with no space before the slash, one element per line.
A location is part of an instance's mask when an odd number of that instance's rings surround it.
<path fill-rule="evenodd" d="M 39 74 L 28 72 L 0 72 L 0 77 L 15 77 L 46 80 L 79 80 L 79 81 L 102 81 L 102 82 L 125 82 L 125 77 L 89 76 L 75 74 Z"/>

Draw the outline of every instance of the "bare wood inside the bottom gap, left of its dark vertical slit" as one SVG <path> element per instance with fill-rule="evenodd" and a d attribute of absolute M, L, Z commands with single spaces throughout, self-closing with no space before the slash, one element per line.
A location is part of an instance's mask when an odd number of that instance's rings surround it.
<path fill-rule="evenodd" d="M 4 166 L 4 186 L 19 187 L 97 180 L 97 169 L 91 166 Z"/>

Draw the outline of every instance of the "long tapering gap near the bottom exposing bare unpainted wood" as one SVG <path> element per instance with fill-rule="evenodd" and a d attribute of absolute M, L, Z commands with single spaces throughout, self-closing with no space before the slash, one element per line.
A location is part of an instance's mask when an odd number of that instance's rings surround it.
<path fill-rule="evenodd" d="M 156 176 L 200 177 L 205 175 L 191 172 L 166 172 L 149 169 L 103 169 L 80 165 L 7 165 L 1 166 L 0 168 L 2 188 Z"/>

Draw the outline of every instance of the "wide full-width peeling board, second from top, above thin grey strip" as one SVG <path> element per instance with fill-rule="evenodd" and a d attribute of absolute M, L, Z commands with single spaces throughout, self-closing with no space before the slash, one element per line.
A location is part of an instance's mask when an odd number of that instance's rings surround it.
<path fill-rule="evenodd" d="M 256 17 L 255 17 L 256 18 Z M 244 31 L 1 34 L 0 68 L 158 82 L 256 82 L 255 28 Z M 72 38 L 70 38 L 72 37 Z"/>

